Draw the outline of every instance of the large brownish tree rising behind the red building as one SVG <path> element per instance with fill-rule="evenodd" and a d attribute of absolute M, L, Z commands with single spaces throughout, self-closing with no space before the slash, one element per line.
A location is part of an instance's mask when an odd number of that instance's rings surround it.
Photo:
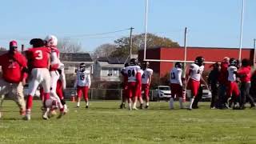
<path fill-rule="evenodd" d="M 133 36 L 132 53 L 137 54 L 138 50 L 144 48 L 145 34 L 136 34 Z M 119 38 L 114 41 L 117 46 L 111 56 L 112 57 L 127 57 L 130 54 L 130 37 Z M 178 42 L 173 42 L 170 38 L 160 37 L 155 34 L 147 34 L 146 46 L 148 48 L 154 47 L 177 47 Z"/>

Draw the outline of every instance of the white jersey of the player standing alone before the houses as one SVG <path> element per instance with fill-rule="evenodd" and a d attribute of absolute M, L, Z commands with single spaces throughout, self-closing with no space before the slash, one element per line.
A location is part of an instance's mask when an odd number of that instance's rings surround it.
<path fill-rule="evenodd" d="M 89 86 L 90 87 L 90 71 L 85 70 L 85 71 L 80 71 L 78 70 L 77 72 L 77 78 L 74 83 L 74 87 L 77 86 Z"/>

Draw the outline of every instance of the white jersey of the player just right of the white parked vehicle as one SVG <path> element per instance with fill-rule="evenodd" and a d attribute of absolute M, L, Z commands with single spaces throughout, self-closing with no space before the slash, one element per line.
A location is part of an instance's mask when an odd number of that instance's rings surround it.
<path fill-rule="evenodd" d="M 182 86 L 182 69 L 174 67 L 170 70 L 170 83 L 176 83 Z"/>

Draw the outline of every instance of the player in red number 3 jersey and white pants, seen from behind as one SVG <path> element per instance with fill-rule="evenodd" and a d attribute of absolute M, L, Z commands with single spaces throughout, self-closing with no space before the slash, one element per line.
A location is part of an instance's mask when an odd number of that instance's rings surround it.
<path fill-rule="evenodd" d="M 31 79 L 29 82 L 28 96 L 26 99 L 26 120 L 30 120 L 30 112 L 33 105 L 33 97 L 38 85 L 41 84 L 44 90 L 43 99 L 46 108 L 46 100 L 50 98 L 50 49 L 44 46 L 44 42 L 40 38 L 30 40 L 30 48 L 26 51 L 28 62 L 31 70 Z M 47 110 L 46 110 L 47 112 Z M 48 114 L 44 113 L 42 118 L 48 119 Z"/>

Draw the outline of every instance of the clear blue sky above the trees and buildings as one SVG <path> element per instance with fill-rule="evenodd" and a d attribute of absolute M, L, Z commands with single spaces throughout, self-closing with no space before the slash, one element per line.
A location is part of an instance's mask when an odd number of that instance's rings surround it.
<path fill-rule="evenodd" d="M 243 47 L 256 38 L 256 1 L 245 0 Z M 148 31 L 188 46 L 238 47 L 242 0 L 149 0 Z M 104 43 L 144 32 L 145 0 L 6 0 L 0 2 L 0 46 L 17 39 L 29 46 L 30 38 L 55 34 L 70 37 L 93 51 Z M 99 34 L 124 30 L 113 34 Z M 80 37 L 75 37 L 79 36 Z M 81 37 L 83 35 L 83 37 Z"/>

